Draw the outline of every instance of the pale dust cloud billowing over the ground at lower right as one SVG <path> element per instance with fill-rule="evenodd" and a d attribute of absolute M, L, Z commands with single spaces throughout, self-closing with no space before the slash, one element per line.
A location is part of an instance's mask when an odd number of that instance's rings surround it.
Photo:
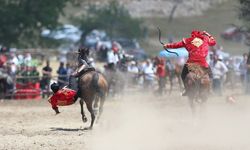
<path fill-rule="evenodd" d="M 247 97 L 214 97 L 192 115 L 180 96 L 126 95 L 105 110 L 87 143 L 92 150 L 250 149 Z"/>

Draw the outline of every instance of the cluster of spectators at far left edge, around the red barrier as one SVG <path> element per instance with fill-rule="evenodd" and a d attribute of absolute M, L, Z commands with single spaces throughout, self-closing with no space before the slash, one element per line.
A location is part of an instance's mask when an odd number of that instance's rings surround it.
<path fill-rule="evenodd" d="M 0 58 L 1 98 L 11 98 L 17 88 L 39 82 L 38 62 L 30 53 L 1 50 Z"/>

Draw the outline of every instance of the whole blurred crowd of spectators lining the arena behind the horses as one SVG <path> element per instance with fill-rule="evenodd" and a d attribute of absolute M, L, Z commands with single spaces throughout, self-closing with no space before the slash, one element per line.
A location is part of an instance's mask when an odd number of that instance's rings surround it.
<path fill-rule="evenodd" d="M 138 60 L 126 54 L 126 50 L 116 41 L 112 42 L 110 48 L 103 45 L 99 47 L 105 49 L 105 51 L 94 50 L 94 52 L 99 53 L 96 55 L 102 56 L 102 61 L 105 61 L 104 73 L 107 70 L 121 72 L 127 81 L 127 85 L 151 90 L 159 93 L 159 95 L 171 92 L 173 87 L 179 91 L 183 90 L 180 76 L 186 58 L 161 58 L 156 56 Z M 223 89 L 225 88 L 232 90 L 242 88 L 244 93 L 249 94 L 250 53 L 244 53 L 242 58 L 235 59 L 233 56 L 223 57 L 221 51 L 221 47 L 217 49 L 212 48 L 208 57 L 213 73 L 212 89 L 214 93 L 223 95 Z M 95 66 L 94 59 L 89 58 L 89 60 Z M 37 61 L 32 58 L 30 53 L 26 52 L 23 55 L 15 51 L 1 52 L 1 98 L 8 98 L 8 95 L 13 94 L 20 85 L 28 83 L 39 83 L 43 97 L 48 96 L 50 93 L 49 85 L 51 80 L 56 80 L 60 88 L 67 86 L 71 73 L 76 69 L 69 62 L 69 60 L 67 62 L 67 59 L 66 61 L 61 61 L 59 62 L 59 68 L 54 69 L 50 66 L 50 61 L 47 60 L 46 65 L 39 73 L 37 71 Z M 56 77 L 52 76 L 53 70 L 57 73 Z M 117 79 L 119 80 L 119 78 Z M 235 84 L 239 83 L 237 80 L 240 81 L 241 87 Z"/>

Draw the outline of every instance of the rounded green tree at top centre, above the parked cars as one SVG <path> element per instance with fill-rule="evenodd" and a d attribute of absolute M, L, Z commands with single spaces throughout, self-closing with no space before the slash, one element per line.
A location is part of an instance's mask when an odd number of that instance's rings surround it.
<path fill-rule="evenodd" d="M 132 18 L 129 12 L 113 0 L 101 7 L 90 5 L 87 13 L 81 18 L 74 18 L 84 31 L 84 38 L 93 29 L 105 30 L 111 38 L 127 37 L 140 38 L 142 36 L 142 21 Z"/>

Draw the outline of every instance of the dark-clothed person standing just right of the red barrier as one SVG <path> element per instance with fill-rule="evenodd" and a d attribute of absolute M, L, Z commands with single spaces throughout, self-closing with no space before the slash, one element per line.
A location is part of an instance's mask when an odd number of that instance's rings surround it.
<path fill-rule="evenodd" d="M 46 92 L 47 96 L 49 94 L 49 85 L 50 85 L 50 80 L 51 80 L 51 73 L 52 73 L 52 68 L 50 67 L 50 62 L 49 60 L 46 61 L 46 66 L 42 69 L 42 80 L 41 80 L 41 88 Z M 45 94 L 43 92 L 42 97 L 45 97 Z"/>

